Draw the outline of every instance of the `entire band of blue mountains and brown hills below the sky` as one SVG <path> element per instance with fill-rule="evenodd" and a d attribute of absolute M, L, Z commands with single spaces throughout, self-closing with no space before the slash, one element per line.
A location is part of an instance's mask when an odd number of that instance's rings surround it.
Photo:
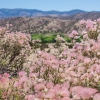
<path fill-rule="evenodd" d="M 99 11 L 86 12 L 71 11 L 40 11 L 36 9 L 0 9 L 0 26 L 5 27 L 7 22 L 13 27 L 10 31 L 25 33 L 70 33 L 79 30 L 77 26 L 81 19 L 95 20 L 100 18 Z"/>

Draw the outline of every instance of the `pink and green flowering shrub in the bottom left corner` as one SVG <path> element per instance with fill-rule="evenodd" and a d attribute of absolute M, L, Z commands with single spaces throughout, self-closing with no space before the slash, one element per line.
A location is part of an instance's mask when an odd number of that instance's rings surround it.
<path fill-rule="evenodd" d="M 0 75 L 0 100 L 23 100 L 23 93 L 13 87 L 14 80 L 9 77 L 7 73 Z"/>

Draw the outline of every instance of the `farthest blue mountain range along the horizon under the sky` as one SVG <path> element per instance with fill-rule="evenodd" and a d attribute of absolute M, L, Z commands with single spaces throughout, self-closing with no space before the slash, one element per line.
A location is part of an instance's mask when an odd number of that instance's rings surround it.
<path fill-rule="evenodd" d="M 0 9 L 0 18 L 8 17 L 37 17 L 37 16 L 70 16 L 79 13 L 86 13 L 83 10 L 71 10 L 71 11 L 41 11 L 37 9 Z"/>

